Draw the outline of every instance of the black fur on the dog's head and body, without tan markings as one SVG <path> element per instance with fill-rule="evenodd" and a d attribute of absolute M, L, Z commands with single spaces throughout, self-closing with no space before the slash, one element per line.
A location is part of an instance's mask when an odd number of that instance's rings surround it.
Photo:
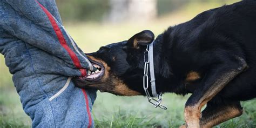
<path fill-rule="evenodd" d="M 143 40 L 140 33 L 137 35 Z M 106 45 L 90 55 L 109 65 L 110 72 L 129 89 L 145 95 L 142 79 L 146 44 L 138 43 L 138 48 L 134 48 L 134 38 L 136 35 L 128 41 Z M 205 11 L 159 35 L 154 42 L 157 92 L 193 93 L 194 97 L 201 97 L 208 89 L 207 83 L 220 79 L 218 74 L 240 68 L 238 57 L 245 60 L 248 69 L 228 81 L 209 105 L 239 104 L 256 97 L 256 1 L 253 0 Z M 200 78 L 187 82 L 186 75 L 191 71 L 198 72 Z M 79 82 L 80 87 L 87 86 L 86 82 Z M 191 98 L 186 105 L 196 104 L 197 99 Z"/>

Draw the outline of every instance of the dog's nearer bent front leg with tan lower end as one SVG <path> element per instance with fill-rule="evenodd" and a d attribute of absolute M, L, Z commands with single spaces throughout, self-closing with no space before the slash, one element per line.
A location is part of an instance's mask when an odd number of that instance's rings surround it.
<path fill-rule="evenodd" d="M 185 104 L 184 117 L 186 127 L 199 128 L 201 108 L 246 68 L 245 60 L 237 58 L 225 60 L 210 70 L 203 78 L 201 86 L 193 92 Z"/>

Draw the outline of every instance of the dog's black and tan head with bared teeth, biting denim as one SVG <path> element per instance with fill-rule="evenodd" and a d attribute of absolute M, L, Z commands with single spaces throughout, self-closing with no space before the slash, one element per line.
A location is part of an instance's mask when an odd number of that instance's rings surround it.
<path fill-rule="evenodd" d="M 143 90 L 144 52 L 153 32 L 144 30 L 128 41 L 102 46 L 87 57 L 98 68 L 86 77 L 75 78 L 78 87 L 92 87 L 115 95 L 145 95 Z"/>

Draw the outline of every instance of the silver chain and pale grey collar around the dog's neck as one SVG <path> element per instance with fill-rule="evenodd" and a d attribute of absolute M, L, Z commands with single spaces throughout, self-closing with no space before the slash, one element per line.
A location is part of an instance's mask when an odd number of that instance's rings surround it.
<path fill-rule="evenodd" d="M 160 92 L 160 94 L 158 95 L 156 92 L 156 84 L 155 84 L 156 79 L 154 78 L 154 65 L 153 65 L 154 64 L 153 63 L 153 43 L 154 41 L 150 45 L 147 45 L 146 51 L 144 52 L 145 64 L 144 64 L 143 88 L 146 93 L 147 99 L 149 100 L 149 103 L 153 104 L 154 107 L 160 107 L 161 109 L 166 110 L 167 107 L 164 105 L 161 105 L 163 93 Z M 153 97 L 150 96 L 149 90 L 147 90 L 147 88 L 149 87 L 149 76 L 147 75 L 149 71 L 149 65 L 150 65 L 150 74 L 151 74 L 150 82 L 151 82 Z M 157 99 L 155 99 L 154 97 L 157 97 Z"/>

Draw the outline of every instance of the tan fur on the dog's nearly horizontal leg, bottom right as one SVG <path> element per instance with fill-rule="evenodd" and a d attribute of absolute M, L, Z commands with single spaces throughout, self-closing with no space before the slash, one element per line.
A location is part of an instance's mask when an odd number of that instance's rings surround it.
<path fill-rule="evenodd" d="M 226 122 L 229 119 L 239 117 L 241 114 L 242 109 L 239 109 L 238 107 L 227 106 L 220 111 L 213 111 L 212 115 L 208 117 L 203 117 L 203 119 L 200 120 L 200 126 L 202 128 L 213 127 L 220 123 Z"/>

